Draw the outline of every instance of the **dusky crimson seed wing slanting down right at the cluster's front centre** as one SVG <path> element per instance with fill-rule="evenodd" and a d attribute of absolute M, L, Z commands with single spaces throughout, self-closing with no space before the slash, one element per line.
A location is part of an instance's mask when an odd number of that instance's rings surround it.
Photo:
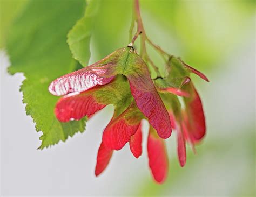
<path fill-rule="evenodd" d="M 129 55 L 128 61 L 129 67 L 124 70 L 124 75 L 129 80 L 131 93 L 139 110 L 149 119 L 150 124 L 161 138 L 170 137 L 171 121 L 154 87 L 147 65 L 139 55 L 134 53 Z"/>

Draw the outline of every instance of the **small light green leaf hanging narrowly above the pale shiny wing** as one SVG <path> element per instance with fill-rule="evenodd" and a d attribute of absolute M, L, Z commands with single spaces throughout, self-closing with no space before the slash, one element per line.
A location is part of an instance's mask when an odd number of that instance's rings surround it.
<path fill-rule="evenodd" d="M 87 66 L 90 59 L 90 40 L 98 11 L 98 0 L 88 0 L 87 8 L 83 18 L 78 20 L 68 34 L 68 44 L 73 58 L 83 66 Z"/>

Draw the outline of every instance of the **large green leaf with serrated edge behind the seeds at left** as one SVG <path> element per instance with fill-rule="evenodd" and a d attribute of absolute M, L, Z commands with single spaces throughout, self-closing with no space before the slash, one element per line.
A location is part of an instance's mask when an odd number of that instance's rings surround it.
<path fill-rule="evenodd" d="M 84 8 L 83 0 L 30 1 L 10 29 L 9 72 L 22 72 L 26 77 L 21 91 L 26 114 L 33 118 L 36 130 L 43 132 L 39 149 L 65 141 L 85 128 L 86 118 L 58 122 L 53 113 L 58 97 L 48 91 L 52 80 L 78 66 L 66 44 L 66 34 L 83 15 Z"/>

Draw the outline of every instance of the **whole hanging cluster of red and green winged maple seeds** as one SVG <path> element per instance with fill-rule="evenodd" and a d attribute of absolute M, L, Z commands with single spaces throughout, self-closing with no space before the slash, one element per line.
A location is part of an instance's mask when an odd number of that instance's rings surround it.
<path fill-rule="evenodd" d="M 76 72 L 66 74 L 51 83 L 49 91 L 63 96 L 56 104 L 59 121 L 90 117 L 108 104 L 114 114 L 106 126 L 97 156 L 95 174 L 109 163 L 114 150 L 129 142 L 133 155 L 142 154 L 141 121 L 150 123 L 147 138 L 149 166 L 154 179 L 163 182 L 169 162 L 164 139 L 177 132 L 178 158 L 186 162 L 186 141 L 192 146 L 205 135 L 205 117 L 200 97 L 189 75 L 206 76 L 171 57 L 164 78 L 151 79 L 149 69 L 133 48 L 125 47 Z M 184 109 L 177 96 L 182 96 Z"/>

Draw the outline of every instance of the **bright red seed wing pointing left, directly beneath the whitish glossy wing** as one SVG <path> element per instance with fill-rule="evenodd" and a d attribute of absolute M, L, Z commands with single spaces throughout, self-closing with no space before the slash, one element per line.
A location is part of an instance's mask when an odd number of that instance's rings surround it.
<path fill-rule="evenodd" d="M 130 87 L 127 82 L 111 82 L 82 93 L 71 93 L 60 98 L 56 104 L 55 114 L 62 122 L 78 120 L 86 115 L 95 114 L 107 104 L 113 104 L 115 107 L 120 105 L 125 108 L 130 97 Z"/>

